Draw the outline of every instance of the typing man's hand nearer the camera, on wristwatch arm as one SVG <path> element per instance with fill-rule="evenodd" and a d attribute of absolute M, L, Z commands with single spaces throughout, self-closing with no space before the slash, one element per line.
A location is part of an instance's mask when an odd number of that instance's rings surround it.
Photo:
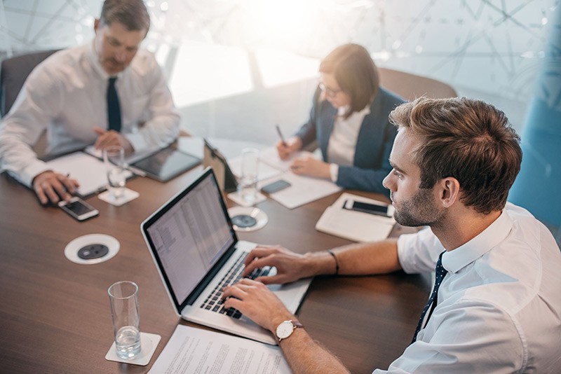
<path fill-rule="evenodd" d="M 224 307 L 233 307 L 256 324 L 273 331 L 278 324 L 295 319 L 276 295 L 262 282 L 241 279 L 240 282 L 224 289 Z"/>

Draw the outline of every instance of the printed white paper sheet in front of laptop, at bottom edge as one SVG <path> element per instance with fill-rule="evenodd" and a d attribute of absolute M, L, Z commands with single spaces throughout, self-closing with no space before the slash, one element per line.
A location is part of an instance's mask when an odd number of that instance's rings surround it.
<path fill-rule="evenodd" d="M 178 325 L 152 366 L 152 374 L 288 374 L 279 347 Z"/>

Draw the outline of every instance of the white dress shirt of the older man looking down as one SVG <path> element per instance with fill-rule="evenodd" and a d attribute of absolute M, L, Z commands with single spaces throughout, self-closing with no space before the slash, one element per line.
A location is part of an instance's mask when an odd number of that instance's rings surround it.
<path fill-rule="evenodd" d="M 62 50 L 39 64 L 0 124 L 1 168 L 31 186 L 34 176 L 48 170 L 32 150 L 44 130 L 49 155 L 93 144 L 93 127 L 108 127 L 108 79 L 93 43 Z M 135 151 L 165 146 L 177 137 L 180 116 L 154 55 L 139 50 L 117 74 L 116 89 L 121 132 Z"/>

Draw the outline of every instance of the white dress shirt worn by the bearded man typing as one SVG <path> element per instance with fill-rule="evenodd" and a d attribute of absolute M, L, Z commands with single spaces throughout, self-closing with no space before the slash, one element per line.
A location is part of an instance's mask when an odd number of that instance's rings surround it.
<path fill-rule="evenodd" d="M 432 271 L 442 251 L 430 229 L 398 240 L 405 272 Z M 508 203 L 442 265 L 417 341 L 374 373 L 561 373 L 561 252 L 543 224 Z"/>

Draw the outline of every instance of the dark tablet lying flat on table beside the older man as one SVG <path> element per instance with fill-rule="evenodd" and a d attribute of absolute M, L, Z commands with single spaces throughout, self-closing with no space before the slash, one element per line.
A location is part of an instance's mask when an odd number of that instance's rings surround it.
<path fill-rule="evenodd" d="M 147 176 L 156 179 L 156 181 L 165 182 L 183 172 L 187 172 L 187 170 L 200 163 L 200 158 L 179 149 L 168 147 L 133 163 L 131 166 L 141 169 Z"/>

